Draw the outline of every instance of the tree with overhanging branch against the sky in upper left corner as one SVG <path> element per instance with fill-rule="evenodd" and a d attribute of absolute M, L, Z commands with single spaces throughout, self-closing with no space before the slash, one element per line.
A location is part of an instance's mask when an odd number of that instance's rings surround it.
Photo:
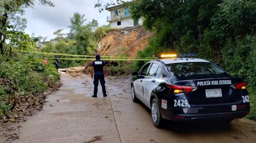
<path fill-rule="evenodd" d="M 35 3 L 54 6 L 50 0 L 1 0 L 0 1 L 0 51 L 4 54 L 5 40 L 26 27 L 26 19 L 22 18 L 25 8 L 33 8 Z"/>

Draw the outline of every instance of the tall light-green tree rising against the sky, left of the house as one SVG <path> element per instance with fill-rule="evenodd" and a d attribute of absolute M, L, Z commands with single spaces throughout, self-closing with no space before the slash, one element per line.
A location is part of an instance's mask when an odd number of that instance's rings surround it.
<path fill-rule="evenodd" d="M 84 18 L 85 15 L 81 15 L 80 13 L 74 13 L 72 17 L 70 17 L 70 31 L 68 33 L 69 39 L 74 39 L 75 35 L 77 34 L 79 28 L 84 24 L 86 19 Z"/>

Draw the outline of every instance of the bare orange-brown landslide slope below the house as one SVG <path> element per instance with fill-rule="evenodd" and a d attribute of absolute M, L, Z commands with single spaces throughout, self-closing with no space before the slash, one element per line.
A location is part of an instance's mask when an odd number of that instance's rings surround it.
<path fill-rule="evenodd" d="M 138 51 L 148 46 L 148 39 L 154 33 L 142 26 L 129 29 L 113 29 L 105 35 L 97 46 L 97 53 L 104 56 L 121 56 L 129 54 L 135 57 Z"/>

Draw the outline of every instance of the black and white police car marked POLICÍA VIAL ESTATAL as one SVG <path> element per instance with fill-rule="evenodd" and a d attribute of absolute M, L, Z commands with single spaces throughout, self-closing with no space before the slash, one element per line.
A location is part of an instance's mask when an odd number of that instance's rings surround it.
<path fill-rule="evenodd" d="M 151 109 L 153 124 L 163 119 L 231 121 L 249 113 L 246 84 L 214 63 L 193 54 L 169 54 L 133 72 L 132 100 Z"/>

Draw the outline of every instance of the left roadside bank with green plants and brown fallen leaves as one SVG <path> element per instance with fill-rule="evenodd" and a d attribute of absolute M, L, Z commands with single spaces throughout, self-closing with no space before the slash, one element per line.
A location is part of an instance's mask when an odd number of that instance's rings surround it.
<path fill-rule="evenodd" d="M 26 65 L 39 60 L 34 64 Z M 57 90 L 60 78 L 54 65 L 44 66 L 32 54 L 0 56 L 0 124 L 23 119 L 43 107 L 47 89 Z M 22 111 L 22 112 L 21 112 Z"/>

